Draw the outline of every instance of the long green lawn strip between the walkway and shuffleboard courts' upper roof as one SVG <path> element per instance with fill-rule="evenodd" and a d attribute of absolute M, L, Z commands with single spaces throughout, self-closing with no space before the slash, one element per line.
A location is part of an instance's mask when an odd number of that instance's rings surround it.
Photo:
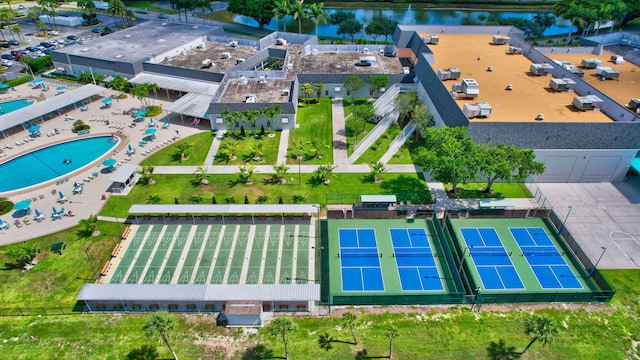
<path fill-rule="evenodd" d="M 117 215 L 124 218 L 132 204 L 145 204 L 150 195 L 158 195 L 161 204 L 173 204 L 176 199 L 180 204 L 193 203 L 190 200 L 193 195 L 202 196 L 204 204 L 211 204 L 213 196 L 218 204 L 242 204 L 245 196 L 251 204 L 255 204 L 259 196 L 266 196 L 267 204 L 277 204 L 280 198 L 283 203 L 291 204 L 294 197 L 300 202 L 325 204 L 327 194 L 408 194 L 407 199 L 413 203 L 419 203 L 419 199 L 431 202 L 421 174 L 383 174 L 383 181 L 377 184 L 368 174 L 336 174 L 329 185 L 318 184 L 312 174 L 301 174 L 302 184 L 298 185 L 296 170 L 296 166 L 291 166 L 284 185 L 272 185 L 271 175 L 259 173 L 254 175 L 253 185 L 238 183 L 238 175 L 212 175 L 206 186 L 198 185 L 193 175 L 154 175 L 156 184 L 136 185 L 128 196 L 110 197 L 100 214 L 113 217 L 113 205 Z"/>

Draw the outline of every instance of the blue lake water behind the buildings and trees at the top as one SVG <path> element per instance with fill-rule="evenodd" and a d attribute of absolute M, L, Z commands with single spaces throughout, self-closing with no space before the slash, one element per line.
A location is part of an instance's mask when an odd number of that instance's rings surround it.
<path fill-rule="evenodd" d="M 360 20 L 365 26 L 371 21 L 373 16 L 381 14 L 384 16 L 389 16 L 393 19 L 396 19 L 400 24 L 406 25 L 484 25 L 488 22 L 494 22 L 494 19 L 498 18 L 524 18 L 524 19 L 533 19 L 536 14 L 547 14 L 548 12 L 516 12 L 516 11 L 471 11 L 471 10 L 414 10 L 414 9 L 406 9 L 406 10 L 341 10 L 341 9 L 327 9 L 329 14 L 334 13 L 336 11 L 349 11 L 354 12 L 356 14 L 356 19 Z M 258 23 L 252 18 L 238 15 L 233 21 L 257 27 Z M 293 17 L 288 16 L 286 18 L 288 30 L 291 32 L 298 31 L 298 21 L 294 20 Z M 556 22 L 550 28 L 544 32 L 545 36 L 559 35 L 559 34 L 567 34 L 569 32 L 569 27 L 571 26 L 568 20 L 564 20 L 562 18 L 556 18 Z M 282 19 L 278 19 L 278 27 L 282 30 Z M 303 31 L 306 34 L 315 34 L 315 25 L 311 22 L 307 22 L 306 25 L 303 25 Z M 276 28 L 276 19 L 273 18 L 271 23 L 265 26 L 266 29 L 275 30 Z M 336 34 L 338 27 L 335 25 L 329 24 L 320 24 L 318 26 L 318 31 L 320 35 L 323 36 L 333 36 L 333 37 L 341 37 Z M 574 29 L 575 31 L 575 29 Z M 364 34 L 364 31 L 356 37 L 364 37 L 367 36 Z M 378 38 L 380 39 L 380 38 Z"/>

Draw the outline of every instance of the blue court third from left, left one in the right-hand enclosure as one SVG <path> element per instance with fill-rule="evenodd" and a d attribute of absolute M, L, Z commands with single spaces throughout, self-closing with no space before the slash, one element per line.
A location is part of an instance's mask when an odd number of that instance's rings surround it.
<path fill-rule="evenodd" d="M 494 228 L 461 228 L 460 232 L 486 290 L 524 289 L 524 285 Z"/>

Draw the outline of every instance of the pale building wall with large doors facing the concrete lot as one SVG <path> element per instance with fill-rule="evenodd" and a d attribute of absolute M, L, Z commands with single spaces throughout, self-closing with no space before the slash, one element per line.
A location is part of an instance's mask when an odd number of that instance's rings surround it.
<path fill-rule="evenodd" d="M 545 163 L 537 182 L 616 182 L 629 170 L 637 149 L 622 150 L 535 150 L 536 160 Z"/>

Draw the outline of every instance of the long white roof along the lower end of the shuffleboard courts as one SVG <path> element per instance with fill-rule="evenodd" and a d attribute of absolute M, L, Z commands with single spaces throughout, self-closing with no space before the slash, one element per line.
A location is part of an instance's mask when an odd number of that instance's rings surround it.
<path fill-rule="evenodd" d="M 318 301 L 320 285 L 85 284 L 78 301 Z"/>

